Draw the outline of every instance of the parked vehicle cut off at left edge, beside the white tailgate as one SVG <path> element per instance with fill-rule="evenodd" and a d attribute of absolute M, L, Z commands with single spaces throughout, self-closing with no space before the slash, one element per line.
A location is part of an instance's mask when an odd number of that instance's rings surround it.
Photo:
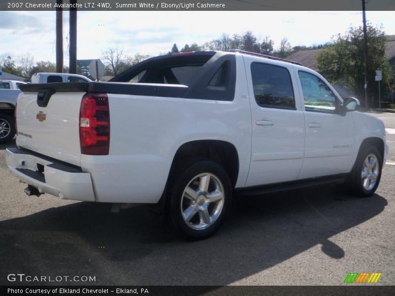
<path fill-rule="evenodd" d="M 17 96 L 21 93 L 18 80 L 0 79 L 0 144 L 15 136 L 14 109 Z"/>

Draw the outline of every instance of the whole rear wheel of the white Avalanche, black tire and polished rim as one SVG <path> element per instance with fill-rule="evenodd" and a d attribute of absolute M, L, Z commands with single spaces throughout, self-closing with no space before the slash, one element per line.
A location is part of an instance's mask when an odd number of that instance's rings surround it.
<path fill-rule="evenodd" d="M 188 239 L 203 239 L 222 225 L 232 199 L 227 172 L 219 164 L 198 161 L 172 182 L 169 192 L 169 222 Z"/>

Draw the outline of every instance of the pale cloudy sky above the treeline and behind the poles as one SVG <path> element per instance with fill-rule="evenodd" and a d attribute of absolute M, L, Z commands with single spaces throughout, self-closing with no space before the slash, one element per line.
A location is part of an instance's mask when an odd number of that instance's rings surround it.
<path fill-rule="evenodd" d="M 394 11 L 367 11 L 367 21 L 395 34 Z M 68 65 L 69 12 L 63 12 L 65 65 Z M 204 42 L 252 31 L 270 36 L 276 48 L 283 37 L 292 46 L 322 44 L 362 24 L 358 11 L 79 11 L 77 58 L 97 59 L 109 47 L 152 56 L 174 43 Z M 55 61 L 55 11 L 0 11 L 0 61 L 18 61 L 29 53 L 35 61 Z"/>

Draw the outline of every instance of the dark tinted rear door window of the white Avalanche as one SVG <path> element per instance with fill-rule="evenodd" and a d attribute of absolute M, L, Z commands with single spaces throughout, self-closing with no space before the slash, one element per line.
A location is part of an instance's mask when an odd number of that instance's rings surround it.
<path fill-rule="evenodd" d="M 252 63 L 251 76 L 255 100 L 259 106 L 295 109 L 291 76 L 286 68 Z"/>

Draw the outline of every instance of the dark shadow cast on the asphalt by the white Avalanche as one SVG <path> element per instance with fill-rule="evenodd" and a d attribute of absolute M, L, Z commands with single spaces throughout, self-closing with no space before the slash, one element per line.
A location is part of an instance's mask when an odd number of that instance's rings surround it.
<path fill-rule="evenodd" d="M 96 282 L 84 284 L 99 285 L 226 285 L 317 244 L 327 256 L 343 258 L 342 246 L 330 237 L 386 205 L 380 195 L 356 198 L 332 186 L 237 196 L 216 235 L 187 242 L 144 206 L 112 214 L 109 205 L 74 203 L 0 222 L 0 284 L 10 284 L 7 274 L 19 272 L 90 275 Z"/>

